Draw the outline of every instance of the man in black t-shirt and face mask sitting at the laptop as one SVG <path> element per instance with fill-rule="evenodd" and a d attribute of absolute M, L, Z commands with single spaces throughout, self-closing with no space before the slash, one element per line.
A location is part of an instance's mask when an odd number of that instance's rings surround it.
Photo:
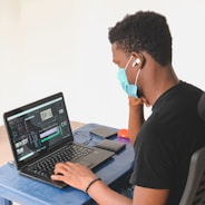
<path fill-rule="evenodd" d="M 162 14 L 139 11 L 126 16 L 110 28 L 109 40 L 119 81 L 129 96 L 134 197 L 111 191 L 88 168 L 74 163 L 56 165 L 51 177 L 87 191 L 97 204 L 178 205 L 191 156 L 205 146 L 205 126 L 197 114 L 202 90 L 177 78 L 172 36 Z M 144 105 L 153 106 L 147 120 Z"/>

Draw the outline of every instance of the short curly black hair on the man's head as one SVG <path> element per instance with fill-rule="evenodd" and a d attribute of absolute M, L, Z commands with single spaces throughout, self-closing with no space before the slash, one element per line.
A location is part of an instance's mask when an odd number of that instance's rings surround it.
<path fill-rule="evenodd" d="M 146 51 L 158 64 L 172 62 L 172 36 L 166 18 L 153 11 L 127 14 L 109 28 L 110 43 L 116 43 L 126 53 Z"/>

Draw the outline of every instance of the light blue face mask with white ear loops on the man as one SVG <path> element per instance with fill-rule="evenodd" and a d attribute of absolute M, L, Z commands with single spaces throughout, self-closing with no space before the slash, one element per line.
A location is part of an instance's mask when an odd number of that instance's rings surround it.
<path fill-rule="evenodd" d="M 134 98 L 139 98 L 137 95 L 137 79 L 140 72 L 140 69 L 137 71 L 136 78 L 135 78 L 135 85 L 130 85 L 127 79 L 126 69 L 129 66 L 130 60 L 133 59 L 133 56 L 129 58 L 128 62 L 124 68 L 118 69 L 118 80 L 123 87 L 123 89 L 127 92 L 128 96 L 131 96 Z"/>

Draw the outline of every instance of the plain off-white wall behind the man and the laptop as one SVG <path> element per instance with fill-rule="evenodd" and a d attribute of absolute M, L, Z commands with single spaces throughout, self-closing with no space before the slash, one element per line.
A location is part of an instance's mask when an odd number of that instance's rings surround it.
<path fill-rule="evenodd" d="M 203 0 L 0 0 L 0 115 L 60 90 L 70 119 L 127 127 L 108 28 L 140 9 L 167 17 L 176 72 L 205 89 Z"/>

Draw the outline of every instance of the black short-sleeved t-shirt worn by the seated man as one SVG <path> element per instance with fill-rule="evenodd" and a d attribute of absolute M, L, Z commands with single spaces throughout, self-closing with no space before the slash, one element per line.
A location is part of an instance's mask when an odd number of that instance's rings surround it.
<path fill-rule="evenodd" d="M 205 146 L 205 123 L 197 114 L 202 90 L 180 81 L 163 94 L 135 143 L 130 183 L 169 189 L 166 205 L 178 205 L 192 154 Z"/>

